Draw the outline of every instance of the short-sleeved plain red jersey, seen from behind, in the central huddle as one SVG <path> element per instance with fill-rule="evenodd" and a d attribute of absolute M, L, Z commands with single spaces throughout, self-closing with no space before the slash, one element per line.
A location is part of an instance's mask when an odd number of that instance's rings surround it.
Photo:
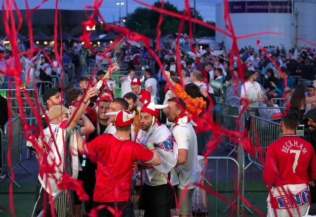
<path fill-rule="evenodd" d="M 96 183 L 93 200 L 97 202 L 128 201 L 133 176 L 133 163 L 150 163 L 154 153 L 128 139 L 103 134 L 85 145 L 86 151 L 97 153 Z"/>

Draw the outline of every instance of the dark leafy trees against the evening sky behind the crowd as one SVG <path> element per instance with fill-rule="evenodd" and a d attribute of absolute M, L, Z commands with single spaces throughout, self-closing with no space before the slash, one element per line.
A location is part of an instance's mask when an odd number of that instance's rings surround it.
<path fill-rule="evenodd" d="M 161 7 L 161 2 L 156 1 L 154 6 Z M 176 13 L 183 13 L 183 11 L 179 11 L 177 7 L 171 4 L 169 1 L 164 2 L 163 8 Z M 194 11 L 192 11 L 194 12 Z M 142 35 L 148 37 L 156 37 L 157 36 L 157 25 L 159 21 L 159 13 L 155 10 L 151 10 L 149 8 L 138 7 L 136 10 L 127 15 L 127 28 L 138 32 Z M 191 15 L 193 16 L 193 15 Z M 165 14 L 162 15 L 162 23 L 160 25 L 161 35 L 166 36 L 169 34 L 175 34 L 178 32 L 178 28 L 180 25 L 180 19 L 167 16 Z M 197 11 L 197 19 L 203 20 L 203 17 Z M 189 32 L 189 22 L 185 22 L 183 26 L 182 33 Z M 211 29 L 205 28 L 200 25 L 196 25 L 196 36 L 215 36 L 215 32 Z"/>

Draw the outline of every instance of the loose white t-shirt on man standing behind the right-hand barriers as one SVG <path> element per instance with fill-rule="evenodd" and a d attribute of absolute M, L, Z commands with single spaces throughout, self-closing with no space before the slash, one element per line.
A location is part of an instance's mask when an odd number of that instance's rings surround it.
<path fill-rule="evenodd" d="M 261 87 L 257 81 L 251 83 L 250 81 L 246 81 L 244 84 L 241 85 L 241 93 L 240 98 L 247 98 L 250 101 L 253 99 L 261 98 Z M 249 107 L 258 107 L 259 103 L 250 103 Z"/>

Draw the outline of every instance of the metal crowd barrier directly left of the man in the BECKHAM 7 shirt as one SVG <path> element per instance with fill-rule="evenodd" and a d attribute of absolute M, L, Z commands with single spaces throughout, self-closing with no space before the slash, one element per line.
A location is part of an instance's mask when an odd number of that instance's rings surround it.
<path fill-rule="evenodd" d="M 255 164 L 263 171 L 267 148 L 281 135 L 280 124 L 261 117 L 250 116 L 248 128 L 249 139 L 253 141 L 254 151 L 248 153 L 250 163 L 245 166 L 245 170 L 251 164 Z"/>

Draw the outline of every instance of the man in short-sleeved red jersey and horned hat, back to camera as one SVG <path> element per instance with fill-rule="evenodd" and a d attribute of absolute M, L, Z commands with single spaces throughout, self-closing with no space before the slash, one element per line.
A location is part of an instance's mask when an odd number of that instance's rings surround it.
<path fill-rule="evenodd" d="M 94 206 L 105 205 L 98 212 L 99 217 L 112 217 L 111 209 L 122 211 L 122 217 L 128 217 L 128 200 L 133 175 L 133 163 L 143 161 L 145 164 L 160 165 L 161 159 L 153 142 L 142 145 L 130 141 L 131 128 L 135 113 L 128 110 L 117 112 L 114 124 L 117 133 L 103 134 L 83 145 L 78 142 L 81 153 L 95 153 L 97 161 L 96 185 L 93 194 Z"/>

